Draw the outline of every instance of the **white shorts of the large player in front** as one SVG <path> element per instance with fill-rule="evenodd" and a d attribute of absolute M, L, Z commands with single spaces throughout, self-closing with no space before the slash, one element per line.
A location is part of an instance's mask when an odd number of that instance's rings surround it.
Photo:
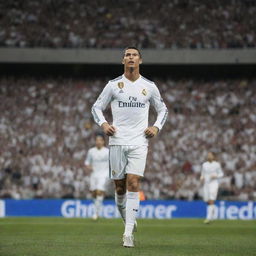
<path fill-rule="evenodd" d="M 120 146 L 109 148 L 109 177 L 121 180 L 126 174 L 144 175 L 148 146 Z"/>

